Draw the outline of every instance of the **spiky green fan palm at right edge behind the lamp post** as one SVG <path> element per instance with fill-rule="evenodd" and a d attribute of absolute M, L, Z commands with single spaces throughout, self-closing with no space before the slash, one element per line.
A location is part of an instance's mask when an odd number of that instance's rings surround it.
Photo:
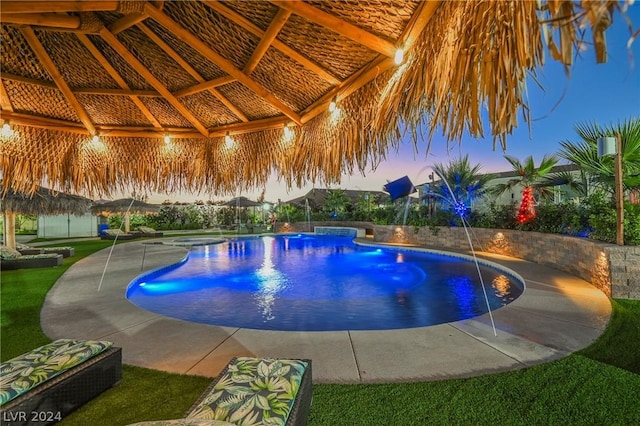
<path fill-rule="evenodd" d="M 617 125 L 601 127 L 597 123 L 576 125 L 582 140 L 562 141 L 559 155 L 580 166 L 592 182 L 613 192 L 614 159 L 598 157 L 598 139 L 606 136 L 622 139 L 622 183 L 626 190 L 640 188 L 640 117 Z"/>

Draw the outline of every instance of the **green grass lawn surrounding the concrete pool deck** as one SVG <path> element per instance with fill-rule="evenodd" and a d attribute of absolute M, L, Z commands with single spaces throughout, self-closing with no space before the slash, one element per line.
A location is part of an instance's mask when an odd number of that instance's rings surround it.
<path fill-rule="evenodd" d="M 39 311 L 69 266 L 111 241 L 70 242 L 76 254 L 52 269 L 1 276 L 1 358 L 50 341 Z M 319 385 L 309 425 L 631 425 L 640 424 L 640 301 L 612 300 L 605 333 L 562 360 L 470 379 Z M 63 420 L 126 425 L 182 417 L 211 379 L 123 366 L 122 382 Z"/>

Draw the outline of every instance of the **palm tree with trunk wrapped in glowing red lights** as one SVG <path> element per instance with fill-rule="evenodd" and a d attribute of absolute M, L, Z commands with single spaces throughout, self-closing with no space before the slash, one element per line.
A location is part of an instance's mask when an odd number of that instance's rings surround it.
<path fill-rule="evenodd" d="M 510 155 L 505 155 L 504 158 L 511 164 L 518 176 L 507 183 L 495 186 L 492 192 L 495 195 L 500 195 L 507 190 L 513 189 L 516 185 L 521 185 L 523 187 L 522 201 L 518 210 L 518 222 L 526 223 L 536 216 L 535 196 L 549 198 L 553 193 L 550 187 L 544 184 L 544 178 L 549 174 L 553 166 L 558 163 L 559 159 L 555 155 L 545 154 L 540 161 L 540 165 L 536 167 L 531 155 L 525 158 L 524 162 Z"/>

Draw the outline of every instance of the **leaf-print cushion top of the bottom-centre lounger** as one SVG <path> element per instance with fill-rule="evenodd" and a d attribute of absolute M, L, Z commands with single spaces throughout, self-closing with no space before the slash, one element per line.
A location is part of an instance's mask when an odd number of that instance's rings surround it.
<path fill-rule="evenodd" d="M 187 418 L 284 425 L 307 366 L 300 360 L 236 358 Z"/>

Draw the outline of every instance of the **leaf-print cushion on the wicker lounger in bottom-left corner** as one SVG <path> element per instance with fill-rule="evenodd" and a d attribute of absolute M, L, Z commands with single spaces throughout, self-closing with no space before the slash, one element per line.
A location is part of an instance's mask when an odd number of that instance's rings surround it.
<path fill-rule="evenodd" d="M 0 405 L 111 347 L 97 340 L 60 339 L 0 364 Z"/>

